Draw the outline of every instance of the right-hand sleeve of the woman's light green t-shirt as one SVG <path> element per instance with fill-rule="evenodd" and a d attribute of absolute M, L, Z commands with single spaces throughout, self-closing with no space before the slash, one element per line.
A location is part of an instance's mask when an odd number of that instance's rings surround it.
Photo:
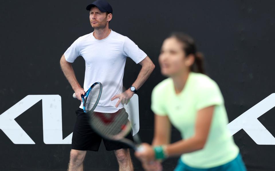
<path fill-rule="evenodd" d="M 198 101 L 196 103 L 197 110 L 224 103 L 219 86 L 214 81 L 205 83 L 198 89 Z"/>

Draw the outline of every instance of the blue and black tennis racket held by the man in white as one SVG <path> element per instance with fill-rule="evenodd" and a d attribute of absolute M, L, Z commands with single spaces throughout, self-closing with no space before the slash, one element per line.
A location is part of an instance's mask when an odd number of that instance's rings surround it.
<path fill-rule="evenodd" d="M 84 95 L 81 95 L 83 102 L 83 111 L 88 113 L 89 111 L 94 111 L 99 102 L 100 96 L 102 93 L 102 84 L 100 82 L 95 82 L 93 85 L 85 92 Z M 75 93 L 72 97 L 76 98 Z"/>

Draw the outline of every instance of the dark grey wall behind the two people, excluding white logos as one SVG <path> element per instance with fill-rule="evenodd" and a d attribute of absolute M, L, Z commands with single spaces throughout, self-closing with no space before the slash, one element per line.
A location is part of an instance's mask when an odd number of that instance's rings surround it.
<path fill-rule="evenodd" d="M 59 94 L 62 97 L 63 137 L 68 136 L 79 102 L 72 99 L 69 83 L 59 60 L 78 37 L 93 31 L 86 5 L 92 1 L 1 1 L 0 114 L 30 94 Z M 206 57 L 207 73 L 220 86 L 229 121 L 274 92 L 275 1 L 114 1 L 110 28 L 128 36 L 156 64 L 149 80 L 138 91 L 140 136 L 151 142 L 153 113 L 150 94 L 164 79 L 158 54 L 164 38 L 184 31 L 197 41 Z M 81 84 L 84 60 L 73 64 Z M 134 81 L 140 66 L 127 59 L 124 86 Z M 272 109 L 260 122 L 275 135 Z M 13 144 L 0 130 L 0 170 L 66 170 L 70 145 L 43 142 L 42 103 L 16 118 L 36 142 Z M 172 130 L 172 140 L 180 138 Z M 273 145 L 256 144 L 243 130 L 234 135 L 248 170 L 275 170 Z M 135 168 L 142 170 L 133 158 Z M 164 162 L 172 170 L 177 158 Z M 89 152 L 86 170 L 117 170 L 113 152 Z M 111 169 L 112 168 L 112 169 Z"/>

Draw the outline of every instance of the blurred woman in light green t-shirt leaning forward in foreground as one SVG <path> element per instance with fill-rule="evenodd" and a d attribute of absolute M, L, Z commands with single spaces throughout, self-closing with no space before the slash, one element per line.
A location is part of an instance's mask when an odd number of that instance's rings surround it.
<path fill-rule="evenodd" d="M 223 96 L 217 83 L 204 74 L 203 56 L 194 40 L 184 33 L 173 33 L 162 44 L 159 63 L 161 73 L 168 78 L 152 92 L 152 146 L 144 143 L 143 150 L 135 153 L 144 168 L 160 170 L 158 161 L 181 156 L 175 171 L 246 170 L 227 129 Z M 172 144 L 170 123 L 183 138 Z"/>

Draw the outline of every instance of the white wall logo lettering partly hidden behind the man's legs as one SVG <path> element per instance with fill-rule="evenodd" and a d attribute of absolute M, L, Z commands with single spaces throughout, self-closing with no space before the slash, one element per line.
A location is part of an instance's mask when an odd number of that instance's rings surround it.
<path fill-rule="evenodd" d="M 0 130 L 14 144 L 35 144 L 28 134 L 15 121 L 19 115 L 42 100 L 43 140 L 45 144 L 71 144 L 72 133 L 62 138 L 62 110 L 59 95 L 28 95 L 0 115 Z M 134 105 L 135 104 L 135 105 Z M 134 94 L 125 110 L 131 106 L 133 112 L 133 135 L 139 130 L 138 96 Z M 131 117 L 131 116 L 129 116 Z"/>

